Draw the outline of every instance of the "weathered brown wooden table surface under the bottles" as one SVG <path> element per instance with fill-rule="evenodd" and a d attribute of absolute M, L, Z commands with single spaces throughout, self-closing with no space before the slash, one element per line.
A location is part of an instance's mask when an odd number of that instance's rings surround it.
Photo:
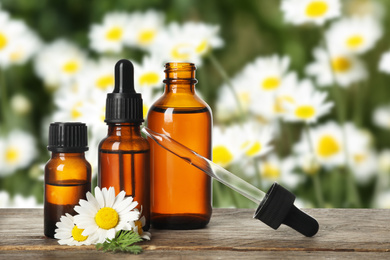
<path fill-rule="evenodd" d="M 151 230 L 140 255 L 61 246 L 43 235 L 42 209 L 0 209 L 0 259 L 390 259 L 390 210 L 307 209 L 314 237 L 282 225 L 273 230 L 250 209 L 214 209 L 199 230 Z"/>

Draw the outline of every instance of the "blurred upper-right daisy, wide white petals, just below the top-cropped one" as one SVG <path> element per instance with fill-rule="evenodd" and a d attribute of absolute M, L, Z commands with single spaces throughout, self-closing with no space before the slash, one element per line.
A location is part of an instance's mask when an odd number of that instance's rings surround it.
<path fill-rule="evenodd" d="M 372 49 L 383 31 L 380 23 L 373 17 L 343 18 L 333 23 L 326 32 L 330 46 L 338 46 L 351 53 L 362 54 Z"/>

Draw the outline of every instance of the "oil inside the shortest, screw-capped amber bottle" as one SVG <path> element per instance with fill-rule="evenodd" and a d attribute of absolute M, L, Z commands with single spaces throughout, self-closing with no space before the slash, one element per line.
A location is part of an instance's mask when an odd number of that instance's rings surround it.
<path fill-rule="evenodd" d="M 86 199 L 86 193 L 91 191 L 91 183 L 84 180 L 64 180 L 55 184 L 45 184 L 44 205 L 44 232 L 45 235 L 54 238 L 56 223 L 61 216 L 69 213 L 74 216 L 77 213 L 74 207 L 80 199 Z"/>

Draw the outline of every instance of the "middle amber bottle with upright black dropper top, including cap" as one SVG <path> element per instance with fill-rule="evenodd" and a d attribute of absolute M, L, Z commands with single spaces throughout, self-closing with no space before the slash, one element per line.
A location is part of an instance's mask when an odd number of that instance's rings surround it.
<path fill-rule="evenodd" d="M 98 185 L 124 190 L 142 209 L 150 226 L 149 142 L 141 136 L 143 120 L 141 94 L 134 90 L 134 68 L 128 60 L 115 65 L 115 88 L 107 94 L 108 134 L 99 144 Z"/>

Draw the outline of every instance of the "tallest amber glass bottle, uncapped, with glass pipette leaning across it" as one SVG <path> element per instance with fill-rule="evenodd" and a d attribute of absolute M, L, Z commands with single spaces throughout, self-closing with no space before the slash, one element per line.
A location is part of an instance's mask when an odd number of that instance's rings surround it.
<path fill-rule="evenodd" d="M 165 92 L 150 108 L 148 128 L 211 159 L 212 115 L 196 95 L 195 65 L 167 63 Z M 155 228 L 193 229 L 211 217 L 211 178 L 151 144 L 151 221 Z"/>

